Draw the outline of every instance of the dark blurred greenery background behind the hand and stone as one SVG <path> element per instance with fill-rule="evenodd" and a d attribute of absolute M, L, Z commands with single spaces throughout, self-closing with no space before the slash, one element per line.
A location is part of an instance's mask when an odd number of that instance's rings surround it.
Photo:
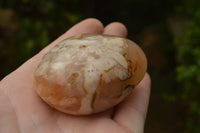
<path fill-rule="evenodd" d="M 145 133 L 200 133 L 199 0 L 1 0 L 0 79 L 88 17 L 124 23 L 147 55 Z"/>

